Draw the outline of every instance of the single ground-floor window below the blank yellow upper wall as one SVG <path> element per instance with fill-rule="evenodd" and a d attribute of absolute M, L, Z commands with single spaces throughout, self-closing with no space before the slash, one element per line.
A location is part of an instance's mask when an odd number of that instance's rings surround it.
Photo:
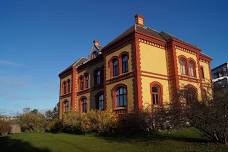
<path fill-rule="evenodd" d="M 151 87 L 152 103 L 153 105 L 161 104 L 161 87 L 159 85 L 153 85 Z"/>

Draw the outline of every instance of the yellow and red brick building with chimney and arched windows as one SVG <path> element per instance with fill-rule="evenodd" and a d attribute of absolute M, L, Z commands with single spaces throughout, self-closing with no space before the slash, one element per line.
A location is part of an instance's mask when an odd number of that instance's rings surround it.
<path fill-rule="evenodd" d="M 183 60 L 183 61 L 182 61 Z M 135 112 L 171 102 L 191 86 L 199 100 L 211 93 L 211 58 L 189 43 L 144 26 L 144 17 L 104 47 L 94 41 L 90 57 L 59 74 L 64 112 Z"/>

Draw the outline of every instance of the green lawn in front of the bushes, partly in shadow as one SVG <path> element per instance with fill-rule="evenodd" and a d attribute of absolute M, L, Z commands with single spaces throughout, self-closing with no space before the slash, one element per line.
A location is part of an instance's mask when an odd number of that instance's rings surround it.
<path fill-rule="evenodd" d="M 195 129 L 162 132 L 156 137 L 22 133 L 0 137 L 1 152 L 228 152 L 206 142 Z"/>

